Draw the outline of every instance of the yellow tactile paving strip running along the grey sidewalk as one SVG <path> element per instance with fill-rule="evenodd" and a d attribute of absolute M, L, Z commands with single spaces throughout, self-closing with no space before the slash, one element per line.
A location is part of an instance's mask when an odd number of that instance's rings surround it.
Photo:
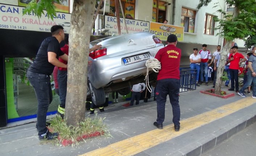
<path fill-rule="evenodd" d="M 84 153 L 80 156 L 131 156 L 146 149 L 154 147 L 158 144 L 173 139 L 181 134 L 194 130 L 225 117 L 235 111 L 248 107 L 256 103 L 256 100 L 247 97 L 228 105 L 216 108 L 195 117 L 191 117 L 181 121 L 181 129 L 179 132 L 174 131 L 173 125 L 165 126 L 163 130 L 152 130 L 143 134 L 133 136 L 117 143 L 110 144 L 106 147 L 96 149 L 94 151 Z"/>

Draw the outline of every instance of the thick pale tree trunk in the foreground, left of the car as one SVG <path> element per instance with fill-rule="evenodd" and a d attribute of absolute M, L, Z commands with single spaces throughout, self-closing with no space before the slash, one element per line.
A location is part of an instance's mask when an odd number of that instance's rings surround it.
<path fill-rule="evenodd" d="M 87 64 L 95 0 L 74 0 L 69 34 L 65 118 L 77 126 L 85 117 Z"/>

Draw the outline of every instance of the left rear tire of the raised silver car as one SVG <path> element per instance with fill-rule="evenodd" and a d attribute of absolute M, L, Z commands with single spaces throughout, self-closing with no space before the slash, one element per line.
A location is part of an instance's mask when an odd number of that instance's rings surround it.
<path fill-rule="evenodd" d="M 90 89 L 91 100 L 96 106 L 99 106 L 105 103 L 106 98 L 105 98 L 105 92 L 103 88 L 99 88 L 99 89 L 94 88 L 90 80 L 88 80 L 88 88 Z"/>

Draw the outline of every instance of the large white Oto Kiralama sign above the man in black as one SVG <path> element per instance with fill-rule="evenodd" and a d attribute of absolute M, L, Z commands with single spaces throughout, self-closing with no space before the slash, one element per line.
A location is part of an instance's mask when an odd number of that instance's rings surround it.
<path fill-rule="evenodd" d="M 34 13 L 22 16 L 24 7 L 0 4 L 0 29 L 31 30 L 50 32 L 53 25 L 62 25 L 65 33 L 69 33 L 71 14 L 57 12 L 53 20 L 48 14 L 42 14 L 41 18 Z"/>

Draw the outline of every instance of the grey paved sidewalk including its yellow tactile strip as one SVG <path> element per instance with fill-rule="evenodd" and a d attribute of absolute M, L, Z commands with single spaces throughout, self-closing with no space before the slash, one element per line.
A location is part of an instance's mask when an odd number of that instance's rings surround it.
<path fill-rule="evenodd" d="M 205 84 L 197 90 L 180 93 L 181 130 L 175 132 L 172 123 L 172 106 L 166 102 L 163 130 L 153 126 L 156 121 L 156 101 L 143 100 L 140 105 L 124 107 L 119 102 L 104 108 L 100 117 L 106 117 L 113 138 L 98 137 L 81 142 L 77 146 L 62 147 L 38 140 L 36 123 L 0 130 L 1 156 L 69 156 L 69 155 L 136 155 L 136 156 L 197 156 L 230 138 L 236 132 L 256 120 L 256 100 L 235 97 L 222 99 L 199 93 L 211 89 Z M 227 91 L 227 87 L 223 87 Z M 229 93 L 231 91 L 227 91 Z M 232 92 L 231 92 L 232 93 Z M 115 106 L 114 106 L 115 105 Z M 89 111 L 86 112 L 89 115 Z M 156 137 L 150 139 L 150 137 Z M 125 140 L 127 139 L 127 140 Z M 118 148 L 117 148 L 118 147 Z M 129 148 L 130 147 L 130 148 Z M 102 152 L 104 149 L 108 151 Z M 94 151 L 97 150 L 97 151 Z M 111 153 L 111 150 L 113 153 Z M 91 152 L 91 153 L 88 153 Z M 102 154 L 104 153 L 104 154 Z"/>

